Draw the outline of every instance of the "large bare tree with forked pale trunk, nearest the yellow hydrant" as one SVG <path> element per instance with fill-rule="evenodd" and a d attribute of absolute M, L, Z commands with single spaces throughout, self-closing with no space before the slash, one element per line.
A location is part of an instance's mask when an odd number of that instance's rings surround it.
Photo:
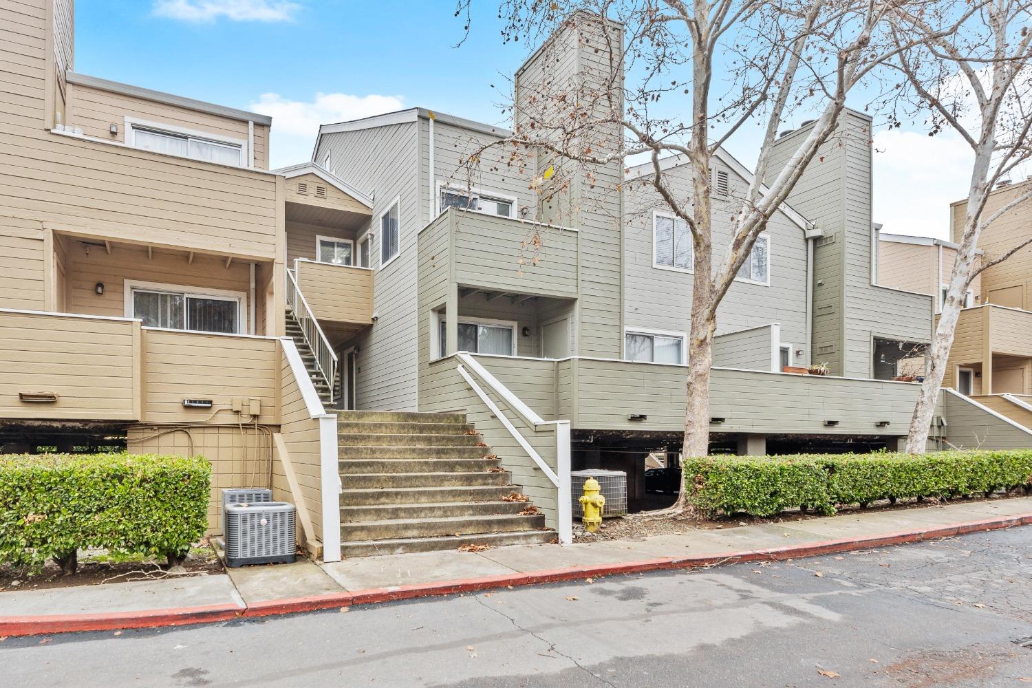
<path fill-rule="evenodd" d="M 509 164 L 521 171 L 531 167 L 530 187 L 552 211 L 583 207 L 584 194 L 573 198 L 570 192 L 577 175 L 591 189 L 604 184 L 613 161 L 627 165 L 628 159 L 647 160 L 652 171 L 645 179 L 690 230 L 685 455 L 708 453 L 717 306 L 770 218 L 821 145 L 836 135 L 850 91 L 914 43 L 944 33 L 929 28 L 917 39 L 899 40 L 892 31 L 899 26 L 898 12 L 905 9 L 908 17 L 922 17 L 943 1 L 948 0 L 503 3 L 507 38 L 534 39 L 574 26 L 605 57 L 580 84 L 547 68 L 517 79 L 522 93 L 514 107 L 514 132 L 491 145 L 511 150 Z M 964 13 L 971 5 L 957 6 Z M 456 13 L 467 7 L 469 0 L 460 0 Z M 541 62 L 546 67 L 559 64 Z M 815 120 L 812 128 L 789 155 L 775 155 L 778 130 L 798 112 Z M 747 189 L 728 208 L 730 245 L 716 256 L 711 162 L 746 126 L 760 128 L 762 142 Z M 547 154 L 547 167 L 526 162 L 535 152 L 539 160 L 540 152 Z M 690 167 L 691 192 L 686 196 L 678 194 L 664 173 L 669 156 L 680 156 Z M 479 154 L 470 158 L 479 159 Z M 675 510 L 683 507 L 683 496 Z"/>

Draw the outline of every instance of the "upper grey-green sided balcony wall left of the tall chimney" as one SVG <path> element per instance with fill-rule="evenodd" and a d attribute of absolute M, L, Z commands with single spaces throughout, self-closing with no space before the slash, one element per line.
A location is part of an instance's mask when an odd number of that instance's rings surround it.
<path fill-rule="evenodd" d="M 449 208 L 419 234 L 420 289 L 451 281 L 465 290 L 576 298 L 575 229 Z"/>

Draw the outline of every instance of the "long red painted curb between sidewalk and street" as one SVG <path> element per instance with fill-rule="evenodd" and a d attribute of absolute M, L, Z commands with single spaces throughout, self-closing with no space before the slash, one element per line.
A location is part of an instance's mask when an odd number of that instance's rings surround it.
<path fill-rule="evenodd" d="M 778 548 L 733 551 L 707 554 L 699 557 L 663 557 L 639 561 L 607 564 L 589 564 L 567 568 L 543 569 L 526 574 L 505 574 L 478 579 L 460 579 L 420 583 L 389 588 L 370 588 L 356 592 L 334 592 L 325 595 L 287 597 L 238 605 L 213 604 L 143 612 L 109 612 L 101 614 L 69 614 L 23 617 L 0 617 L 0 635 L 21 636 L 65 633 L 85 630 L 115 630 L 119 628 L 151 628 L 156 626 L 184 626 L 198 623 L 227 621 L 236 617 L 265 617 L 300 612 L 315 612 L 335 607 L 376 604 L 379 602 L 417 597 L 433 597 L 456 593 L 476 592 L 492 588 L 559 583 L 585 578 L 602 578 L 620 574 L 640 574 L 653 570 L 700 568 L 746 561 L 800 559 L 821 554 L 835 554 L 850 550 L 866 550 L 904 543 L 949 537 L 969 532 L 999 530 L 1032 524 L 1032 514 L 1021 516 L 965 521 L 946 526 L 930 526 L 918 530 L 904 530 L 862 539 L 829 539 L 807 545 L 787 545 Z"/>

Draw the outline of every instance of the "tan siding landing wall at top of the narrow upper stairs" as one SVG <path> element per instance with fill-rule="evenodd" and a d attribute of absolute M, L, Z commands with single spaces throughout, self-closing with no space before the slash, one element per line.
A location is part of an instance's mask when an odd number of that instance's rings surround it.
<path fill-rule="evenodd" d="M 310 262 L 297 266 L 298 286 L 317 320 L 373 322 L 373 270 Z"/>

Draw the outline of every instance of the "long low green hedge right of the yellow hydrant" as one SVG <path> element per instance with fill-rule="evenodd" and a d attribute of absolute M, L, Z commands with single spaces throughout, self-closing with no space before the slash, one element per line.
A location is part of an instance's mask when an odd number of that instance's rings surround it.
<path fill-rule="evenodd" d="M 774 516 L 804 506 L 823 514 L 879 499 L 989 494 L 1032 486 L 1032 451 L 929 454 L 710 456 L 683 464 L 688 501 L 703 516 Z"/>

